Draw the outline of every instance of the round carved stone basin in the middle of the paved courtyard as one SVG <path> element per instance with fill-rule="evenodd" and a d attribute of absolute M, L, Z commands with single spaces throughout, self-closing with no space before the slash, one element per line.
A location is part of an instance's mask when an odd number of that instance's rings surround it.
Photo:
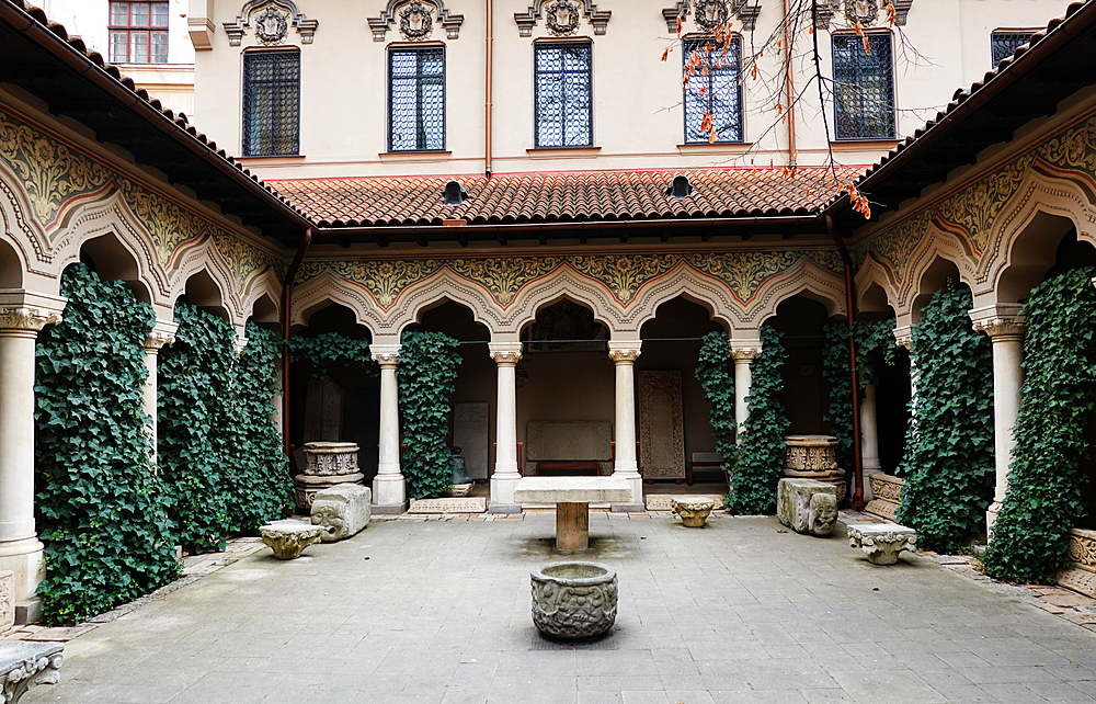
<path fill-rule="evenodd" d="M 616 622 L 616 570 L 598 563 L 563 561 L 532 572 L 533 623 L 560 640 L 586 640 Z"/>

